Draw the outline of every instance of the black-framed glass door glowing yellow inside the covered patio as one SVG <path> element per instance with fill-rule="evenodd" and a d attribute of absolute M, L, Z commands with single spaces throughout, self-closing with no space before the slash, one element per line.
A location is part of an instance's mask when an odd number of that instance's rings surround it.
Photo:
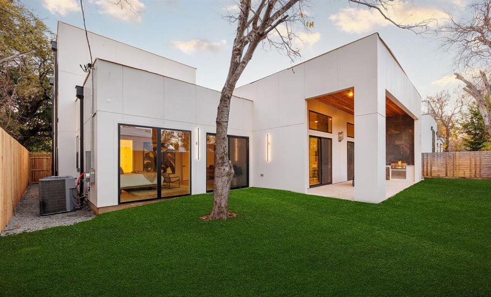
<path fill-rule="evenodd" d="M 309 185 L 332 183 L 332 139 L 309 137 Z"/>

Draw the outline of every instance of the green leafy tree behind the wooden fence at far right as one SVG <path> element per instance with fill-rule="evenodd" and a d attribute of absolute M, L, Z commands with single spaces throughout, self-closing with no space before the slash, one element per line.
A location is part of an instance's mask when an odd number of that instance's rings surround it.
<path fill-rule="evenodd" d="M 490 150 L 491 137 L 486 132 L 483 117 L 476 103 L 470 104 L 463 115 L 461 131 L 466 135 L 463 139 L 466 150 Z"/>

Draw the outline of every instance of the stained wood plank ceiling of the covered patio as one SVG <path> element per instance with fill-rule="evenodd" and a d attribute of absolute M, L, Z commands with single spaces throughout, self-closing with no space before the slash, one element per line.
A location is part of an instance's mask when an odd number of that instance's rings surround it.
<path fill-rule="evenodd" d="M 353 89 L 343 90 L 337 93 L 327 94 L 320 97 L 316 97 L 315 99 L 330 105 L 334 108 L 345 111 L 349 114 L 355 114 L 355 102 L 354 102 L 354 92 Z M 406 114 L 402 108 L 400 108 L 397 104 L 392 102 L 392 100 L 385 97 L 385 116 L 395 116 L 395 115 L 403 115 Z"/>

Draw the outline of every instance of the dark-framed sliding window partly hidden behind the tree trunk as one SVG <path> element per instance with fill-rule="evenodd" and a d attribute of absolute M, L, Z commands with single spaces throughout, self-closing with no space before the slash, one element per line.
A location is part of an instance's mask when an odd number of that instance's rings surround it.
<path fill-rule="evenodd" d="M 206 191 L 213 191 L 215 182 L 215 143 L 214 134 L 206 135 Z M 249 186 L 249 138 L 228 136 L 228 159 L 232 161 L 234 176 L 231 188 Z"/>

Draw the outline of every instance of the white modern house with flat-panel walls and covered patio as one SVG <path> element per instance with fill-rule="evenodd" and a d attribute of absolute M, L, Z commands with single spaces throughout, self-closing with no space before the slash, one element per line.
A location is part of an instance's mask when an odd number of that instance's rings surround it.
<path fill-rule="evenodd" d="M 100 211 L 213 191 L 219 92 L 195 84 L 196 68 L 88 37 L 85 73 L 84 30 L 58 23 L 56 174 L 86 172 Z M 393 53 L 369 35 L 235 90 L 232 188 L 380 202 L 421 180 L 421 152 L 436 142 L 429 116 Z"/>

